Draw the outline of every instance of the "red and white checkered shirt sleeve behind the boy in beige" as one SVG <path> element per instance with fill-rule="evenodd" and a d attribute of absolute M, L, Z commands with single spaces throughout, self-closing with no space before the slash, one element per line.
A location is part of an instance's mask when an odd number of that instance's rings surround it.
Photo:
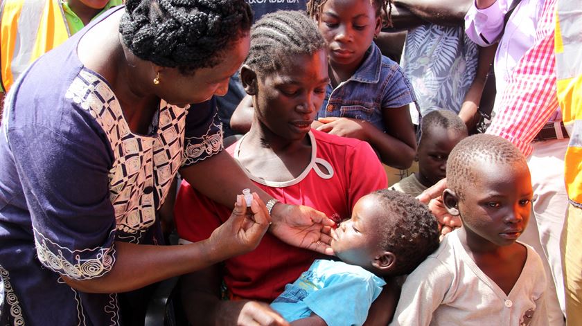
<path fill-rule="evenodd" d="M 487 134 L 502 136 L 525 155 L 531 141 L 558 108 L 554 27 L 556 0 L 547 0 L 536 41 L 520 59 L 502 94 L 500 109 Z"/>

